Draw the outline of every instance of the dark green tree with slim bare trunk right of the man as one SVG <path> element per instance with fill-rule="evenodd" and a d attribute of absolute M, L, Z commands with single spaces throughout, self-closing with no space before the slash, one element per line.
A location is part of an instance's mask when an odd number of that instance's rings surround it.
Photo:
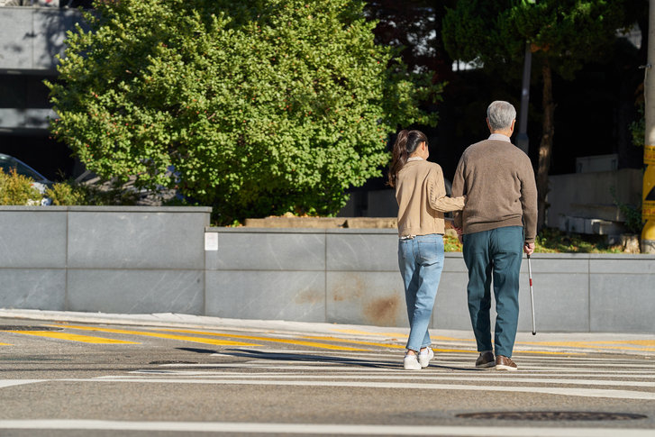
<path fill-rule="evenodd" d="M 632 24 L 630 4 L 630 0 L 459 0 L 443 19 L 442 36 L 450 56 L 478 62 L 493 74 L 518 78 L 525 44 L 531 44 L 532 69 L 541 73 L 542 83 L 540 228 L 545 222 L 555 133 L 553 72 L 570 79 L 585 62 L 603 59 L 617 30 Z"/>

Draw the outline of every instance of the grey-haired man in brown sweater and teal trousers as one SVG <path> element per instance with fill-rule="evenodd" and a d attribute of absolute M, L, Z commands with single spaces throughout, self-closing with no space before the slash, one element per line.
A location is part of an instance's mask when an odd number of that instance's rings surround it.
<path fill-rule="evenodd" d="M 452 183 L 452 196 L 468 196 L 455 214 L 469 269 L 469 314 L 480 353 L 477 368 L 516 370 L 512 360 L 519 317 L 519 272 L 522 250 L 534 250 L 537 188 L 532 163 L 510 137 L 514 106 L 503 101 L 487 108 L 491 135 L 464 150 Z M 490 286 L 494 282 L 496 328 L 491 343 Z"/>

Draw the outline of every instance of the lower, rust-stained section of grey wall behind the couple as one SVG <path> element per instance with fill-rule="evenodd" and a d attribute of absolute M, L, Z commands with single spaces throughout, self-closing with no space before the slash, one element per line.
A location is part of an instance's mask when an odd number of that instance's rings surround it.
<path fill-rule="evenodd" d="M 206 314 L 405 326 L 395 230 L 208 228 Z M 214 250 L 216 249 L 216 250 Z M 535 254 L 540 332 L 655 332 L 655 256 Z M 432 327 L 470 329 L 468 273 L 447 253 Z M 528 267 L 519 329 L 530 331 Z"/>

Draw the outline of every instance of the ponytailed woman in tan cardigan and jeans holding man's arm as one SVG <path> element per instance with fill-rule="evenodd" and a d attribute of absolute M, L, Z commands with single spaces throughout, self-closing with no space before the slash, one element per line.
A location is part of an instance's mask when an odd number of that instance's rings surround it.
<path fill-rule="evenodd" d="M 428 325 L 443 269 L 443 213 L 460 211 L 466 200 L 446 196 L 441 167 L 428 156 L 423 132 L 401 131 L 388 175 L 398 202 L 398 265 L 410 325 L 403 363 L 408 370 L 425 368 L 434 357 Z"/>

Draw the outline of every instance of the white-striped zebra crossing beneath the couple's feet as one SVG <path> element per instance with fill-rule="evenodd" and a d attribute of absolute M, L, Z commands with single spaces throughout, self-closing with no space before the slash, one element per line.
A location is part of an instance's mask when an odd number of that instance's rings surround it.
<path fill-rule="evenodd" d="M 398 353 L 232 350 L 242 362 L 164 364 L 89 381 L 302 387 L 416 388 L 543 393 L 655 401 L 655 363 L 629 357 L 523 357 L 515 372 L 475 369 L 475 354 L 437 355 L 421 371 L 402 369 Z"/>

